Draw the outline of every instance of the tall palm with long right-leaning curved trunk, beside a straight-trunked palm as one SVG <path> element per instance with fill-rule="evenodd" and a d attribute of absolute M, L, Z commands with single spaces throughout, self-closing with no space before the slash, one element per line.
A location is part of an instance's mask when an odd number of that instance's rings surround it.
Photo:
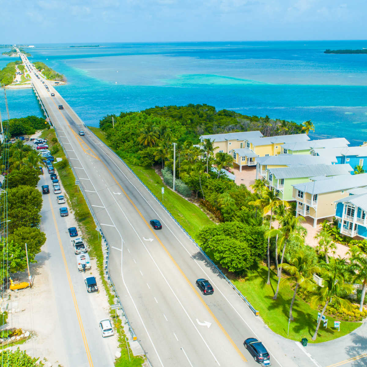
<path fill-rule="evenodd" d="M 280 263 L 283 264 L 284 253 L 286 252 L 286 246 L 288 241 L 294 240 L 300 244 L 304 243 L 304 237 L 306 229 L 301 226 L 301 221 L 304 221 L 304 217 L 294 217 L 291 212 L 288 212 L 285 217 L 280 219 L 280 229 L 269 229 L 265 232 L 266 236 L 276 237 L 278 235 L 280 237 L 280 245 L 283 245 L 283 251 L 281 253 Z M 273 299 L 277 299 L 279 292 L 279 284 L 281 279 L 281 269 L 279 266 L 279 279 L 276 287 L 276 292 Z"/>

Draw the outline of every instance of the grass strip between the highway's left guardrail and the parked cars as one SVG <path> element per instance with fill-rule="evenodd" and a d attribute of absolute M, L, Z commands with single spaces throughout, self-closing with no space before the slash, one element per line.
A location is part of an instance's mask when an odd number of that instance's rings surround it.
<path fill-rule="evenodd" d="M 101 238 L 98 237 L 98 232 L 95 230 L 95 223 L 86 203 L 86 200 L 84 199 L 83 194 L 78 189 L 78 186 L 75 185 L 75 176 L 68 164 L 68 160 L 65 157 L 61 145 L 57 140 L 55 130 L 51 128 L 49 130 L 43 131 L 41 137 L 47 139 L 49 147 L 48 149 L 50 149 L 52 155 L 55 157 L 55 162 L 56 158 L 62 158 L 62 161 L 54 163 L 54 166 L 57 169 L 59 179 L 62 182 L 65 192 L 68 194 L 69 207 L 73 210 L 75 219 L 79 224 L 79 228 L 84 233 L 84 238 L 86 239 L 86 242 L 88 243 L 88 246 L 90 248 L 89 255 L 91 258 L 96 259 L 98 272 L 101 276 L 103 287 L 105 288 L 108 296 L 108 302 L 110 305 L 113 305 L 115 296 L 112 294 L 111 287 L 105 279 Z M 112 312 L 111 310 L 110 316 L 111 319 L 114 320 L 118 334 L 117 340 L 119 341 L 119 347 L 121 349 L 121 357 L 119 359 L 116 359 L 115 366 L 142 366 L 144 359 L 139 356 L 134 356 L 132 354 L 130 346 L 126 346 L 126 335 L 124 333 L 121 318 L 117 317 L 115 319 L 115 311 Z M 129 352 L 127 351 L 127 348 L 129 348 Z M 130 353 L 131 361 L 129 360 L 128 353 Z"/>

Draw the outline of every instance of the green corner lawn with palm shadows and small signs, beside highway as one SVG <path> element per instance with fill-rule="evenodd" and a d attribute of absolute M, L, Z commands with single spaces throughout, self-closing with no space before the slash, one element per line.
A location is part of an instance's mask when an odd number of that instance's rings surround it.
<path fill-rule="evenodd" d="M 328 326 L 325 329 L 321 324 L 315 342 L 311 340 L 317 324 L 317 310 L 312 309 L 308 303 L 296 296 L 293 306 L 294 321 L 291 321 L 289 337 L 287 337 L 289 307 L 293 296 L 293 290 L 289 286 L 280 288 L 276 300 L 272 299 L 276 286 L 277 277 L 270 272 L 270 285 L 266 284 L 268 270 L 261 266 L 259 270 L 249 273 L 241 280 L 233 280 L 233 284 L 247 297 L 248 301 L 260 311 L 260 316 L 275 333 L 292 340 L 301 341 L 307 338 L 310 343 L 321 343 L 333 340 L 349 334 L 362 323 L 341 321 L 340 331 L 334 329 L 333 317 L 327 316 Z"/>

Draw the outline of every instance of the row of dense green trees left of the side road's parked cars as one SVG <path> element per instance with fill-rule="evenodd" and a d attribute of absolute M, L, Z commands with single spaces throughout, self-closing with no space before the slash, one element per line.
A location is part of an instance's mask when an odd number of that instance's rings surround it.
<path fill-rule="evenodd" d="M 2 188 L 7 195 L 1 195 L 0 208 L 7 207 L 7 242 L 0 243 L 8 251 L 7 264 L 1 263 L 1 277 L 9 273 L 23 271 L 27 267 L 25 243 L 28 246 L 28 258 L 35 262 L 35 256 L 41 251 L 46 236 L 39 229 L 42 194 L 36 188 L 39 181 L 40 157 L 29 145 L 18 140 L 10 145 L 1 144 L 1 172 L 4 175 Z"/>

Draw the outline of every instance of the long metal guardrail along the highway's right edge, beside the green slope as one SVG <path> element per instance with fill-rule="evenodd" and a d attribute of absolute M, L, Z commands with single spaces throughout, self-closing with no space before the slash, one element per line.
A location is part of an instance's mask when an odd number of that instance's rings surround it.
<path fill-rule="evenodd" d="M 170 211 L 167 210 L 167 208 L 161 203 L 161 201 L 153 194 L 152 191 L 149 190 L 149 188 L 145 185 L 145 183 L 135 174 L 135 172 L 126 164 L 126 162 L 116 154 L 108 145 L 106 145 L 101 139 L 97 137 L 97 135 L 94 134 L 85 124 L 84 126 L 88 129 L 88 131 L 94 135 L 106 148 L 108 148 L 124 165 L 130 172 L 137 178 L 140 183 L 152 194 L 152 196 L 157 200 L 157 202 L 163 207 L 163 209 L 171 216 L 171 218 L 177 223 L 177 225 L 185 232 L 186 236 L 189 237 L 189 239 L 195 244 L 195 246 L 198 248 L 198 250 L 201 252 L 203 257 L 206 259 L 209 264 L 211 264 L 215 269 L 217 269 L 218 273 L 227 281 L 227 283 L 237 292 L 237 294 L 240 296 L 240 298 L 243 299 L 243 301 L 247 304 L 247 306 L 250 308 L 250 310 L 254 313 L 255 316 L 259 316 L 259 311 L 256 310 L 249 301 L 247 301 L 247 298 L 236 288 L 236 286 L 224 275 L 221 269 L 218 268 L 217 265 L 214 264 L 214 262 L 208 257 L 208 255 L 203 251 L 203 249 L 196 243 L 196 241 L 189 235 L 189 233 L 186 231 L 185 228 L 182 227 L 181 224 L 176 220 L 176 218 L 170 213 Z"/>

